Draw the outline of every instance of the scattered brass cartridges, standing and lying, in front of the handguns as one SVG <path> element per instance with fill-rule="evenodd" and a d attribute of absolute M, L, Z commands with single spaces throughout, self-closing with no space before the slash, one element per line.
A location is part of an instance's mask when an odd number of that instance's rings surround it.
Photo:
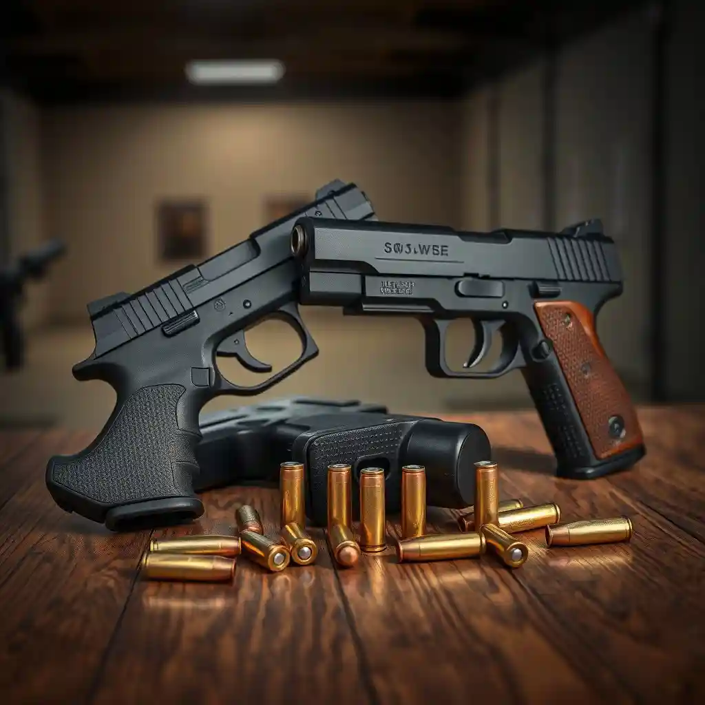
<path fill-rule="evenodd" d="M 519 568 L 529 549 L 512 534 L 544 528 L 547 546 L 580 546 L 629 541 L 627 517 L 560 524 L 553 503 L 525 507 L 521 500 L 499 501 L 496 462 L 475 464 L 475 503 L 458 517 L 459 534 L 427 534 L 426 472 L 422 465 L 405 465 L 401 476 L 401 537 L 395 539 L 400 563 L 454 560 L 494 553 L 509 568 Z M 351 568 L 362 553 L 379 553 L 387 546 L 385 475 L 381 467 L 360 472 L 360 537 L 353 534 L 352 467 L 328 466 L 328 541 L 333 559 Z M 243 555 L 265 570 L 277 572 L 291 563 L 309 565 L 318 546 L 305 533 L 305 468 L 300 462 L 280 467 L 280 531 L 266 537 L 257 510 L 241 505 L 235 511 L 239 536 L 187 536 L 155 539 L 142 558 L 142 575 L 153 580 L 230 581 L 235 558 Z"/>

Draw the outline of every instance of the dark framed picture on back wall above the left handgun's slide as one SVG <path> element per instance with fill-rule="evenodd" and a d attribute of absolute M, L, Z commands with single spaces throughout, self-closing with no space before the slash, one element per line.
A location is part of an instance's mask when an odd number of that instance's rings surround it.
<path fill-rule="evenodd" d="M 161 262 L 206 257 L 207 205 L 202 200 L 157 203 L 157 249 Z"/>

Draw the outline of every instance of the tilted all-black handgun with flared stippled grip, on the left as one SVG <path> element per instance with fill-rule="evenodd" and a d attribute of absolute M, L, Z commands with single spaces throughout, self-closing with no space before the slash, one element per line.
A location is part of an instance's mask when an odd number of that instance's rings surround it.
<path fill-rule="evenodd" d="M 110 529 L 203 513 L 192 485 L 201 407 L 220 394 L 262 392 L 318 354 L 298 313 L 298 266 L 289 247 L 303 215 L 375 217 L 362 191 L 336 180 L 319 189 L 314 202 L 216 257 L 133 295 L 121 292 L 88 305 L 95 349 L 73 367 L 73 376 L 108 382 L 117 401 L 90 446 L 49 460 L 47 486 L 61 508 Z M 295 329 L 300 357 L 260 384 L 231 383 L 219 372 L 216 353 L 237 357 L 252 372 L 271 372 L 245 345 L 245 330 L 267 318 Z"/>

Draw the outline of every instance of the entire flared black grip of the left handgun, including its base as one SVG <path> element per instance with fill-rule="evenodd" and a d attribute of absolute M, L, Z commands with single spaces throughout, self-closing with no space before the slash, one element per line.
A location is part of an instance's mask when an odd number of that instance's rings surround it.
<path fill-rule="evenodd" d="M 188 421 L 197 414 L 178 413 L 185 393 L 180 384 L 137 389 L 116 405 L 90 446 L 51 458 L 47 486 L 56 503 L 114 531 L 202 515 L 192 489 L 201 436 Z"/>

